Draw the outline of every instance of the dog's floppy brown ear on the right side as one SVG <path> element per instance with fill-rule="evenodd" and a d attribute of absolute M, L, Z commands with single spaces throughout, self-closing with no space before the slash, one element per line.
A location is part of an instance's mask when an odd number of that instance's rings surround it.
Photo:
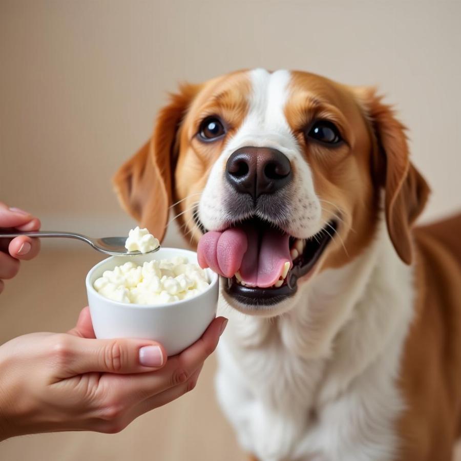
<path fill-rule="evenodd" d="M 382 102 L 374 88 L 355 89 L 374 134 L 374 180 L 384 187 L 386 223 L 397 254 L 411 264 L 411 226 L 423 211 L 430 193 L 424 178 L 410 162 L 406 128 Z"/>

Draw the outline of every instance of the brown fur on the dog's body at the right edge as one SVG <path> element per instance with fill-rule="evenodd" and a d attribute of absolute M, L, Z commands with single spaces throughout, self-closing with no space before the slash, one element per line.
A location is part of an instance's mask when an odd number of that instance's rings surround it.
<path fill-rule="evenodd" d="M 450 460 L 461 415 L 461 215 L 416 228 L 417 300 L 399 422 L 404 461 Z"/>

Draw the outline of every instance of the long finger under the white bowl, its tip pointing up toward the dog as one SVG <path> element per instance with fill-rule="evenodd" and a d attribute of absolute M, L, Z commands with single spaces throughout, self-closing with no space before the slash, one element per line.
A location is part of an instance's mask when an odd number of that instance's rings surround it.
<path fill-rule="evenodd" d="M 227 319 L 224 317 L 213 320 L 198 341 L 179 355 L 169 358 L 161 370 L 136 376 L 136 379 L 132 376 L 117 376 L 117 383 L 114 385 L 119 386 L 123 395 L 140 395 L 147 399 L 185 383 L 215 350 L 226 323 Z"/>

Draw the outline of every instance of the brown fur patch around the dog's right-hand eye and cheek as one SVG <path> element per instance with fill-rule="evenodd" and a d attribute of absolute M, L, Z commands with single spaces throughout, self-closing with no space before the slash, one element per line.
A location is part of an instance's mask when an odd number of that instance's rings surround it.
<path fill-rule="evenodd" d="M 285 116 L 311 166 L 322 218 L 328 222 L 340 215 L 342 220 L 335 245 L 324 254 L 321 269 L 341 267 L 362 253 L 374 236 L 380 189 L 369 174 L 373 139 L 349 88 L 317 75 L 294 72 L 290 93 Z M 346 144 L 328 149 L 306 143 L 303 132 L 316 118 L 334 120 Z"/>

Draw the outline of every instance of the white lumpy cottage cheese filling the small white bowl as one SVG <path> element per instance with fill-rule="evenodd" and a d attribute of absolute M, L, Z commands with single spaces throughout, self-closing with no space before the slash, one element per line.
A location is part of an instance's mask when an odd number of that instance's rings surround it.
<path fill-rule="evenodd" d="M 197 264 L 177 257 L 145 262 L 142 266 L 126 262 L 106 270 L 93 286 L 100 295 L 114 301 L 165 304 L 199 295 L 209 283 Z"/>

